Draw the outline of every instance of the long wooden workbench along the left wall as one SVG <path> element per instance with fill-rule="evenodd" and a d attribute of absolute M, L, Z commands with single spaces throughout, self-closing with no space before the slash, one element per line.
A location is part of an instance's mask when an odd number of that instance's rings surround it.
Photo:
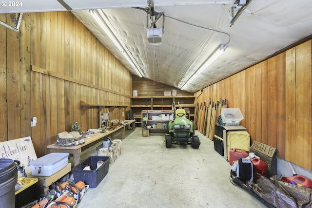
<path fill-rule="evenodd" d="M 50 152 L 67 152 L 69 154 L 72 154 L 74 167 L 80 163 L 81 151 L 88 149 L 93 144 L 99 142 L 99 140 L 101 140 L 103 137 L 108 137 L 109 135 L 111 135 L 112 138 L 115 138 L 115 133 L 121 131 L 121 138 L 124 139 L 126 135 L 125 127 L 126 126 L 119 126 L 110 132 L 94 133 L 92 136 L 90 136 L 90 138 L 84 138 L 85 143 L 82 145 L 76 145 L 72 147 L 60 147 L 56 144 L 52 144 L 47 146 L 47 148 L 50 149 Z"/>

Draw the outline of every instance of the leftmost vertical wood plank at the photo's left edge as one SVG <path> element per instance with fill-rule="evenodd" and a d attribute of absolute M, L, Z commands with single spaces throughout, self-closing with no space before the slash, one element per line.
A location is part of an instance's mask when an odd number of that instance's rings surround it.
<path fill-rule="evenodd" d="M 6 14 L 0 14 L 0 21 L 6 22 Z M 2 29 L 0 30 L 0 142 L 8 140 L 6 64 L 6 30 Z"/>

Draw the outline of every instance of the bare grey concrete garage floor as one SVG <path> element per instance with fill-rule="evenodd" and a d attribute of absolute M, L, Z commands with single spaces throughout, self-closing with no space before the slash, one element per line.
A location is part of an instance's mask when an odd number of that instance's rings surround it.
<path fill-rule="evenodd" d="M 164 135 L 142 137 L 141 128 L 126 132 L 121 155 L 109 164 L 98 187 L 88 189 L 78 208 L 266 208 L 230 182 L 232 166 L 199 132 L 199 149 L 167 149 Z"/>

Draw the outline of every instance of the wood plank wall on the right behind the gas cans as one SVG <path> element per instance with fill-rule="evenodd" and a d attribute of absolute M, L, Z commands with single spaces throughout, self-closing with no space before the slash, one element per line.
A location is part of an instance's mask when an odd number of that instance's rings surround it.
<path fill-rule="evenodd" d="M 205 89 L 196 102 L 228 99 L 244 115 L 252 142 L 277 148 L 277 156 L 312 170 L 311 40 Z"/>

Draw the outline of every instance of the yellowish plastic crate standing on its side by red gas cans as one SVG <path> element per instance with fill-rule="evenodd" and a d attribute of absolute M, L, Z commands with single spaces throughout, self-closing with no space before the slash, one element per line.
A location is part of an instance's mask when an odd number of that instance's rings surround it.
<path fill-rule="evenodd" d="M 250 134 L 246 131 L 228 131 L 226 133 L 227 159 L 230 149 L 242 149 L 247 151 L 250 147 Z"/>

